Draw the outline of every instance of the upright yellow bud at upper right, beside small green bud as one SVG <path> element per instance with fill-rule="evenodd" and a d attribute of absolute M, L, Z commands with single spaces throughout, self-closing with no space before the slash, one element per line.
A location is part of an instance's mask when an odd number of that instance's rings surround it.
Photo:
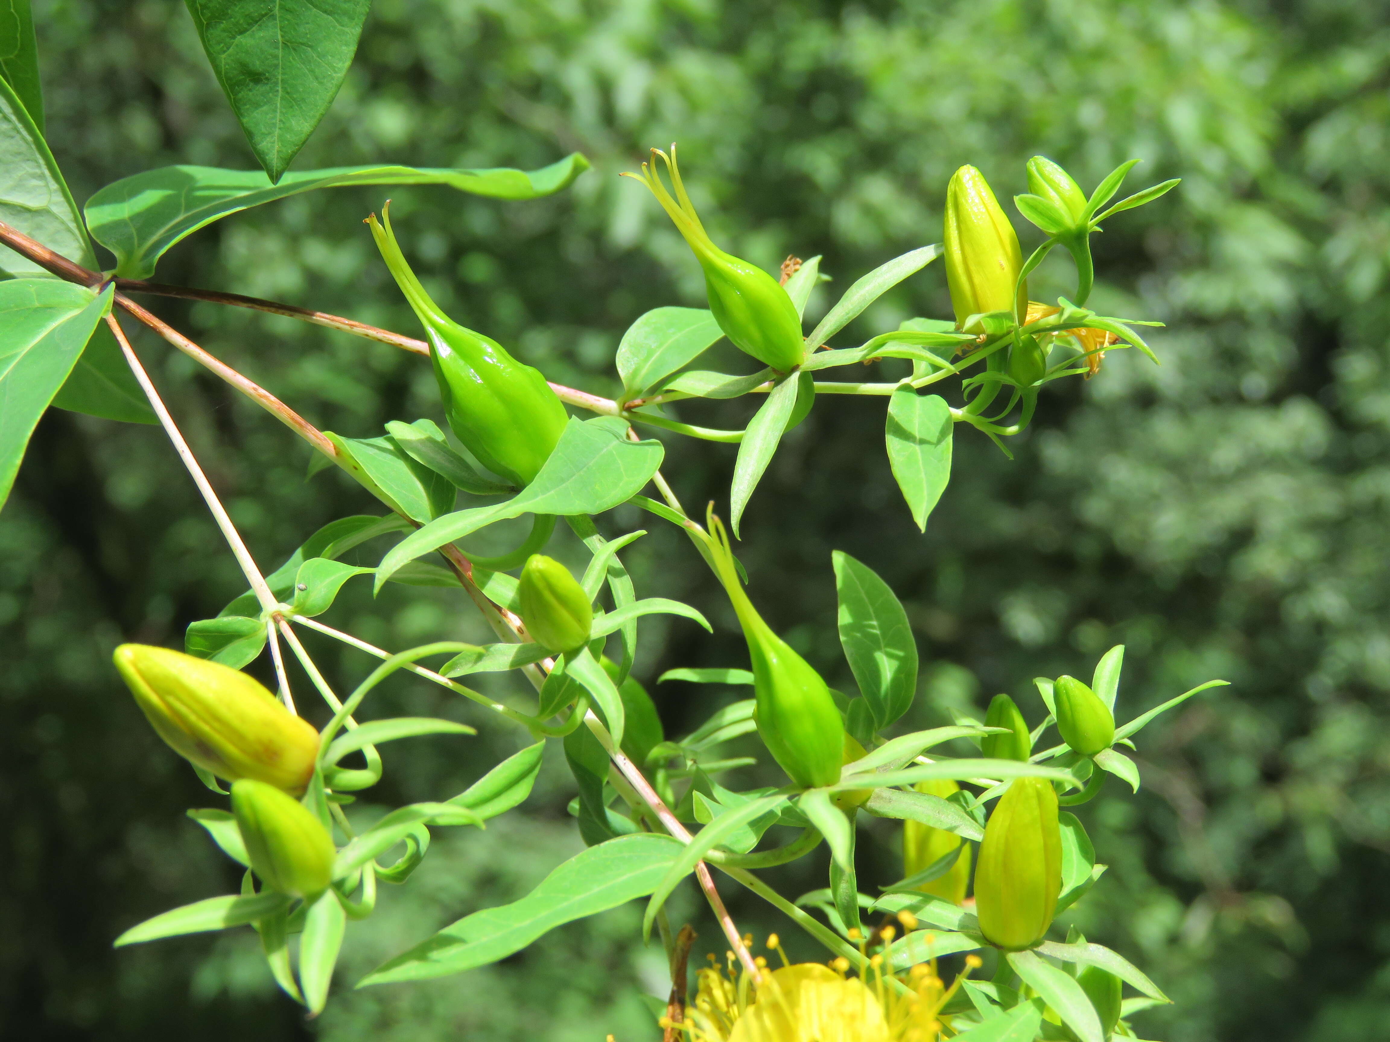
<path fill-rule="evenodd" d="M 960 167 L 947 186 L 947 285 L 956 322 L 986 311 L 1027 311 L 1019 236 L 984 175 Z"/>

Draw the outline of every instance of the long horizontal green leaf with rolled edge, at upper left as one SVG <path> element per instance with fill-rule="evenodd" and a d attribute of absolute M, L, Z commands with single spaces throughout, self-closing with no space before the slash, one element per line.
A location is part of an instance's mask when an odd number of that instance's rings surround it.
<path fill-rule="evenodd" d="M 107 185 L 85 210 L 92 238 L 117 257 L 115 274 L 146 279 L 171 246 L 199 228 L 300 192 L 350 185 L 449 185 L 475 196 L 539 199 L 567 188 L 588 168 L 588 160 L 575 153 L 535 171 L 334 167 L 286 174 L 271 185 L 259 169 L 160 167 Z"/>

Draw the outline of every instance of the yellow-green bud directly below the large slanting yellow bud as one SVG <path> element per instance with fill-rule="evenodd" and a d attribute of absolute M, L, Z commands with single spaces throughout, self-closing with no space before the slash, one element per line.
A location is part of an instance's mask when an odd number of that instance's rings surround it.
<path fill-rule="evenodd" d="M 303 803 L 274 785 L 232 782 L 232 814 L 261 882 L 291 898 L 313 898 L 334 878 L 334 839 Z"/>

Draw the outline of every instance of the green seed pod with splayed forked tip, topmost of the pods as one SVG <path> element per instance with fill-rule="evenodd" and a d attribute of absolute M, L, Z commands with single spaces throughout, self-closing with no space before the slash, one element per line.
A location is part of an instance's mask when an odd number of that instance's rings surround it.
<path fill-rule="evenodd" d="M 666 163 L 671 175 L 676 197 L 666 190 L 656 172 L 656 157 Z M 709 310 L 724 331 L 724 336 L 745 354 L 751 354 L 764 365 L 781 372 L 790 372 L 806 360 L 806 340 L 801 335 L 801 317 L 787 290 L 756 264 L 749 264 L 719 249 L 699 214 L 685 195 L 681 172 L 676 165 L 676 146 L 667 156 L 660 149 L 652 149 L 652 163 L 642 164 L 642 174 L 627 174 L 645 183 L 671 221 L 705 271 L 705 292 L 709 296 Z"/>

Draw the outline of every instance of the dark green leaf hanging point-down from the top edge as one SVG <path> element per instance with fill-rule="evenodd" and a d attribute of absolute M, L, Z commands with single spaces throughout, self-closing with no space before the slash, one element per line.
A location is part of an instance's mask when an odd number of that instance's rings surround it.
<path fill-rule="evenodd" d="M 342 86 L 371 0 L 186 0 L 257 161 L 279 181 Z"/>

